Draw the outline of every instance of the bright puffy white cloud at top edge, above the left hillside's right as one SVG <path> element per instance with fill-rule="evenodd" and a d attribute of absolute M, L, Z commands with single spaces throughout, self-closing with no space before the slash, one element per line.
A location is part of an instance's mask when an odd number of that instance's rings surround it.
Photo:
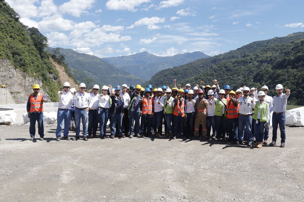
<path fill-rule="evenodd" d="M 74 17 L 80 17 L 82 13 L 86 13 L 86 10 L 92 7 L 94 2 L 95 0 L 71 0 L 62 4 L 59 7 L 59 11 L 70 14 Z"/>

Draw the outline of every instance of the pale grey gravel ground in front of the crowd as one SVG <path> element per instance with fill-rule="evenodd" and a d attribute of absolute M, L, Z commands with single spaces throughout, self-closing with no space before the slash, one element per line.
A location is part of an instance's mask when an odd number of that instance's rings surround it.
<path fill-rule="evenodd" d="M 56 142 L 55 127 L 32 142 L 28 126 L 0 126 L 0 201 L 304 201 L 303 128 L 286 128 L 285 148 L 256 149 L 215 140 Z"/>

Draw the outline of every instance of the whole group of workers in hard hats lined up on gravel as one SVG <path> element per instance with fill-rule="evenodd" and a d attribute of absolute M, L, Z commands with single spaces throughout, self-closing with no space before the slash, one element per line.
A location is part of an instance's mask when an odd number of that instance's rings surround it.
<path fill-rule="evenodd" d="M 290 90 L 278 84 L 277 95 L 268 96 L 268 87 L 260 91 L 246 86 L 235 92 L 229 85 L 220 89 L 218 81 L 204 86 L 204 82 L 191 88 L 176 85 L 173 88 L 162 86 L 153 89 L 152 85 L 103 86 L 94 85 L 86 89 L 81 83 L 79 91 L 70 89 L 65 82 L 58 92 L 56 141 L 60 141 L 64 122 L 63 139 L 70 140 L 70 120 L 75 120 L 76 135 L 80 139 L 82 122 L 83 140 L 97 137 L 133 138 L 164 137 L 217 139 L 231 144 L 243 144 L 261 148 L 267 145 L 269 123 L 272 115 L 273 137 L 270 146 L 276 145 L 278 125 L 281 131 L 281 146 L 285 147 L 285 111 Z M 39 93 L 39 85 L 33 85 L 33 94 L 28 98 L 27 112 L 30 119 L 30 140 L 35 138 L 35 124 L 38 122 L 40 140 L 44 140 L 43 103 L 46 97 Z M 107 123 L 110 119 L 110 133 Z M 87 124 L 88 123 L 88 124 Z M 164 124 L 164 131 L 163 131 Z M 164 133 L 163 133 L 164 132 Z"/>

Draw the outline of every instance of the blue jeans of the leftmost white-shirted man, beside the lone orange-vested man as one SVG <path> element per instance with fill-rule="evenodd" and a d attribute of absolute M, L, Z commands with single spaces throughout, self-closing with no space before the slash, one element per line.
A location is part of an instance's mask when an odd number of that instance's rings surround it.
<path fill-rule="evenodd" d="M 61 136 L 63 120 L 64 120 L 63 136 L 67 137 L 67 135 L 69 135 L 70 119 L 71 119 L 71 112 L 69 109 L 58 109 L 56 138 Z"/>

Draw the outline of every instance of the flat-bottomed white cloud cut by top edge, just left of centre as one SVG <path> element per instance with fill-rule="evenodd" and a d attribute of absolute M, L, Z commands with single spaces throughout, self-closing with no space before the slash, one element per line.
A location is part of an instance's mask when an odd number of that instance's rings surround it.
<path fill-rule="evenodd" d="M 106 7 L 109 10 L 128 10 L 135 12 L 135 7 L 140 6 L 143 3 L 151 2 L 150 0 L 109 0 L 106 3 Z"/>

